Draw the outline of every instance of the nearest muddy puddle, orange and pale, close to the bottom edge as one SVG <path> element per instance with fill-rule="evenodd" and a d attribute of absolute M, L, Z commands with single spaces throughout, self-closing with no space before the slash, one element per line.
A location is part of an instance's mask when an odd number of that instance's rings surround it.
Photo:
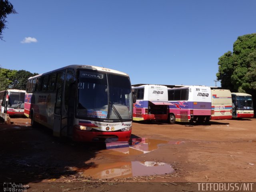
<path fill-rule="evenodd" d="M 84 169 L 74 168 L 74 171 L 83 171 L 84 176 L 94 179 L 127 178 L 136 176 L 171 174 L 174 169 L 170 164 L 161 162 L 116 162 L 99 164 L 97 167 Z"/>

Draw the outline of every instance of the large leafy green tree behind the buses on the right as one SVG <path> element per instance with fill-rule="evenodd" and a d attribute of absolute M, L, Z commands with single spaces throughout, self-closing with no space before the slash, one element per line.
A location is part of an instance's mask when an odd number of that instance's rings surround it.
<path fill-rule="evenodd" d="M 256 110 L 256 33 L 239 36 L 233 52 L 221 56 L 218 65 L 216 76 L 222 87 L 252 94 Z"/>

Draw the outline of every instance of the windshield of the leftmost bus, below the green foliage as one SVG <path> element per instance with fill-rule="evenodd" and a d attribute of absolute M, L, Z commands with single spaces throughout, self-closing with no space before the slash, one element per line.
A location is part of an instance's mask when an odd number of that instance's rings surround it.
<path fill-rule="evenodd" d="M 24 99 L 25 99 L 24 92 L 9 92 L 8 107 L 15 108 L 15 109 L 17 108 L 24 109 Z"/>

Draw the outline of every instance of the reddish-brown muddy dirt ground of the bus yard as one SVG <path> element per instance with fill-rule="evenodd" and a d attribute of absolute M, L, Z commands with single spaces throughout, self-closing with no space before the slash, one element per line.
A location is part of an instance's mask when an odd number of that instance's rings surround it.
<path fill-rule="evenodd" d="M 31 128 L 28 118 L 11 121 L 0 124 L 0 182 L 28 184 L 27 191 L 197 191 L 197 182 L 256 182 L 255 118 L 134 122 L 133 144 L 142 144 L 118 149 L 54 138 L 47 128 Z M 134 165 L 148 162 L 174 171 L 147 174 Z"/>

